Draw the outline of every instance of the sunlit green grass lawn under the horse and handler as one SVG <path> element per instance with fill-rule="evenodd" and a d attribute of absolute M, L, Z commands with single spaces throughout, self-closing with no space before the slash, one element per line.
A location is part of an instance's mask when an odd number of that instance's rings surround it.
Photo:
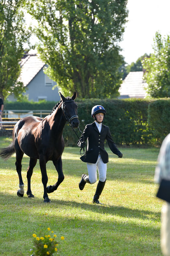
<path fill-rule="evenodd" d="M 0 137 L 0 147 L 10 139 Z M 0 159 L 0 255 L 29 256 L 32 234 L 48 227 L 58 237 L 61 256 L 160 256 L 160 211 L 163 202 L 155 197 L 158 185 L 153 177 L 159 149 L 119 148 L 120 159 L 110 149 L 107 181 L 100 197 L 103 205 L 92 204 L 96 184 L 78 188 L 87 174 L 79 159 L 79 148 L 65 148 L 62 161 L 64 181 L 43 203 L 41 171 L 37 163 L 32 176 L 32 193 L 27 198 L 26 172 L 29 158 L 24 155 L 23 198 L 17 197 L 18 174 L 15 155 Z M 52 162 L 47 163 L 48 185 L 57 181 Z M 60 237 L 64 236 L 61 241 Z"/>

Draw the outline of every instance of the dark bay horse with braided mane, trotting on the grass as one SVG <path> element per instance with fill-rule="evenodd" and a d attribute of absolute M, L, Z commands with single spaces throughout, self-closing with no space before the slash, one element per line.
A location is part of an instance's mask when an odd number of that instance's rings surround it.
<path fill-rule="evenodd" d="M 60 183 L 64 180 L 62 171 L 61 155 L 64 150 L 64 139 L 62 132 L 66 121 L 73 128 L 77 128 L 79 120 L 77 116 L 77 104 L 74 99 L 76 92 L 72 97 L 64 97 L 61 93 L 61 100 L 55 105 L 52 112 L 44 119 L 37 116 L 27 116 L 20 119 L 13 129 L 13 142 L 7 147 L 0 149 L 0 157 L 7 160 L 16 153 L 16 170 L 19 176 L 19 190 L 17 195 L 24 196 L 24 183 L 22 180 L 22 158 L 24 153 L 30 157 L 30 164 L 27 169 L 27 195 L 32 198 L 34 195 L 31 191 L 31 176 L 33 168 L 39 159 L 40 169 L 42 173 L 42 184 L 44 187 L 43 199 L 45 203 L 49 203 L 47 193 L 55 191 Z M 48 186 L 46 163 L 51 160 L 58 172 L 58 180 L 53 186 Z"/>

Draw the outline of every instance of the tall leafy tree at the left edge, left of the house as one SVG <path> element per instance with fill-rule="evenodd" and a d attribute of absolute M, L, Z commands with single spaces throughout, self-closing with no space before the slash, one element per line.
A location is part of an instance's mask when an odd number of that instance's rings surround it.
<path fill-rule="evenodd" d="M 23 44 L 30 33 L 24 26 L 24 14 L 21 11 L 23 0 L 3 0 L 0 2 L 0 96 L 6 99 L 10 93 L 21 97 L 25 91 L 23 83 L 18 81 L 21 72 Z"/>

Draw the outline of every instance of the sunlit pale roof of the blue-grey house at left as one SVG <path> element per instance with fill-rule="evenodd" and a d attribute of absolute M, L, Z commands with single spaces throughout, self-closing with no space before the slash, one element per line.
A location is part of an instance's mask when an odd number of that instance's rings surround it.
<path fill-rule="evenodd" d="M 44 62 L 37 56 L 37 54 L 24 54 L 21 62 L 21 75 L 19 80 L 27 86 L 37 73 L 45 65 Z"/>

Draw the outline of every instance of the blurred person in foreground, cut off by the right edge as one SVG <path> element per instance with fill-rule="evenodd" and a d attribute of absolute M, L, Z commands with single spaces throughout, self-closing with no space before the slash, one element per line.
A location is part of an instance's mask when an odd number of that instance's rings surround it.
<path fill-rule="evenodd" d="M 156 196 L 165 201 L 161 210 L 161 249 L 170 256 L 170 134 L 162 142 L 154 180 L 159 183 Z"/>

